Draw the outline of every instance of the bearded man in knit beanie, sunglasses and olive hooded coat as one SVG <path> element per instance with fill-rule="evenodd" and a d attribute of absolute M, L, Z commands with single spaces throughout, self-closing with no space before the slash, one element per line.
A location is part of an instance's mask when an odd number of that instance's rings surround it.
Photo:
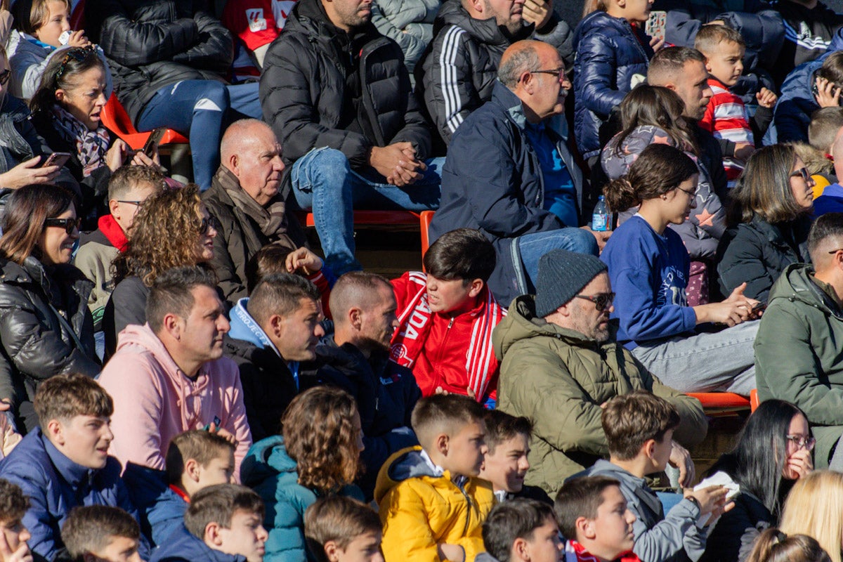
<path fill-rule="evenodd" d="M 658 381 L 615 340 L 609 321 L 615 293 L 606 266 L 587 255 L 555 249 L 542 256 L 535 295 L 513 301 L 492 341 L 501 360 L 498 407 L 534 420 L 526 484 L 550 495 L 570 475 L 608 453 L 600 425 L 603 404 L 648 390 L 679 410 L 670 463 L 680 484 L 694 479 L 685 447 L 706 436 L 701 404 Z"/>

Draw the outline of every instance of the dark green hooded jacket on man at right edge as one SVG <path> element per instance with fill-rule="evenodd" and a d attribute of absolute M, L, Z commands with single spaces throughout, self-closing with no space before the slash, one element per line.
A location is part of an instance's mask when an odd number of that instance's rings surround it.
<path fill-rule="evenodd" d="M 755 336 L 758 398 L 796 404 L 817 440 L 815 468 L 828 468 L 843 433 L 843 309 L 816 283 L 811 265 L 788 265 L 770 292 Z"/>

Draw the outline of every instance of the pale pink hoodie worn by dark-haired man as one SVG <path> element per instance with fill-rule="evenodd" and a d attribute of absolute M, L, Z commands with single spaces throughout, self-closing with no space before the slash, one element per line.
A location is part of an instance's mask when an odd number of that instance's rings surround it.
<path fill-rule="evenodd" d="M 99 384 L 114 399 L 110 454 L 127 462 L 164 470 L 169 441 L 182 431 L 212 423 L 237 439 L 234 479 L 252 444 L 237 365 L 227 357 L 208 361 L 191 381 L 169 356 L 149 324 L 129 325 L 120 333 L 117 351 L 99 375 Z"/>

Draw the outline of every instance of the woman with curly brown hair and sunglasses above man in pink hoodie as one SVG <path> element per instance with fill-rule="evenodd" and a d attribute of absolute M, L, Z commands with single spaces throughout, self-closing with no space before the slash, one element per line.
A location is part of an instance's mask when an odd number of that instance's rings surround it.
<path fill-rule="evenodd" d="M 148 197 L 129 230 L 126 251 L 111 265 L 115 288 L 103 314 L 105 357 L 117 348 L 117 335 L 128 324 L 146 324 L 147 297 L 164 270 L 180 265 L 207 265 L 217 236 L 211 216 L 199 198 L 199 186 L 188 184 Z"/>

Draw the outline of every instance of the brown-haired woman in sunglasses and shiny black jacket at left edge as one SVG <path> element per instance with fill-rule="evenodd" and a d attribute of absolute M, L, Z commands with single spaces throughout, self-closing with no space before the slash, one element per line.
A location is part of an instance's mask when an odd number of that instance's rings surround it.
<path fill-rule="evenodd" d="M 94 284 L 70 264 L 79 238 L 73 195 L 25 185 L 6 206 L 0 238 L 0 399 L 21 433 L 38 425 L 32 406 L 53 375 L 99 373 L 88 297 Z"/>

